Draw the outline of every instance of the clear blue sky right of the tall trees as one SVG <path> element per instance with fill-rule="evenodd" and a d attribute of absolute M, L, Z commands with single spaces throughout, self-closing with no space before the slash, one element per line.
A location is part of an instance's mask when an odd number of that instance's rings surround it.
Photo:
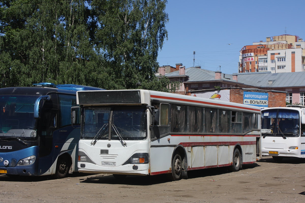
<path fill-rule="evenodd" d="M 305 40 L 305 1 L 168 0 L 168 40 L 159 65 L 201 65 L 212 71 L 238 72 L 239 51 L 266 37 L 297 35 Z M 286 33 L 285 33 L 286 31 Z M 228 45 L 231 44 L 231 45 Z"/>

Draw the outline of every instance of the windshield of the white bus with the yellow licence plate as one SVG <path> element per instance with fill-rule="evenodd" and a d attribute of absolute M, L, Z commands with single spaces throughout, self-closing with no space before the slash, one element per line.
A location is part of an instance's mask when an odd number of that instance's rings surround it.
<path fill-rule="evenodd" d="M 289 109 L 263 110 L 262 136 L 298 137 L 300 135 L 299 112 Z"/>

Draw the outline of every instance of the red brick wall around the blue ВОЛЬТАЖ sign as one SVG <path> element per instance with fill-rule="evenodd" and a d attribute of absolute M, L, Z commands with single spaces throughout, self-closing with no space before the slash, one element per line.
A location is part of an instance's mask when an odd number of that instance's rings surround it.
<path fill-rule="evenodd" d="M 243 103 L 244 91 L 257 92 L 255 90 L 230 89 L 230 102 Z M 286 93 L 271 92 L 271 91 L 267 91 L 267 93 L 268 93 L 268 107 L 286 106 Z"/>

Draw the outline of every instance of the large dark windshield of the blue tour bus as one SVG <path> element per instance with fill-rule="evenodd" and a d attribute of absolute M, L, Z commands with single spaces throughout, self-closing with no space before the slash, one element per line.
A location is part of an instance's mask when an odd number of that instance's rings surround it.
<path fill-rule="evenodd" d="M 34 103 L 37 96 L 0 95 L 0 138 L 36 137 Z"/>

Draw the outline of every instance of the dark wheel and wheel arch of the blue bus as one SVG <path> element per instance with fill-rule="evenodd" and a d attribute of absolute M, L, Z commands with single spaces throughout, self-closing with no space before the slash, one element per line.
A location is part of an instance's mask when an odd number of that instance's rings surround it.
<path fill-rule="evenodd" d="M 56 170 L 53 176 L 55 178 L 65 178 L 69 174 L 70 167 L 72 166 L 72 158 L 70 154 L 63 153 L 57 158 Z"/>

